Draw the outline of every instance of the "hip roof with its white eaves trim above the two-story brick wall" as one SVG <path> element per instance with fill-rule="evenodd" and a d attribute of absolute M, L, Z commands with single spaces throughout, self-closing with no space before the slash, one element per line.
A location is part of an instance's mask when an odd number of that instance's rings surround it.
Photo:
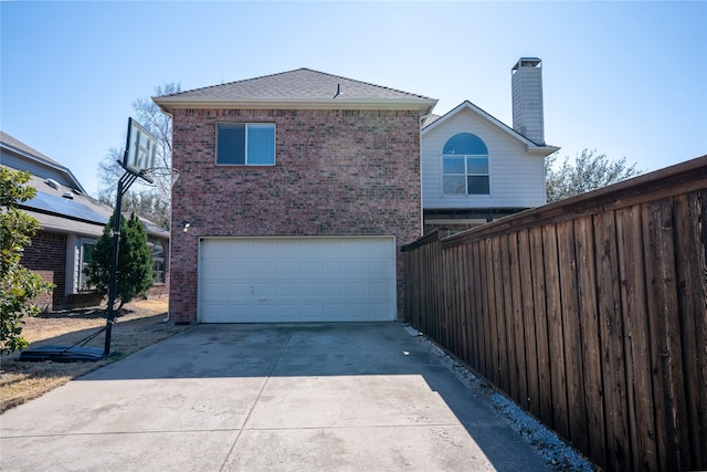
<path fill-rule="evenodd" d="M 278 74 L 210 87 L 196 88 L 152 98 L 168 113 L 176 106 L 258 106 L 318 105 L 327 107 L 399 106 L 420 107 L 425 115 L 436 99 L 395 88 L 313 71 L 297 69 Z"/>

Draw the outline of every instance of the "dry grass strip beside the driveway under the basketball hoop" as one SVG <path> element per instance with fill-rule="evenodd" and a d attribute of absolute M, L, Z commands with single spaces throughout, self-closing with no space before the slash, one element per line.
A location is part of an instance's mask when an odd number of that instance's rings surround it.
<path fill-rule="evenodd" d="M 150 344 L 165 339 L 190 326 L 166 322 L 167 298 L 140 300 L 126 304 L 113 325 L 110 348 L 115 354 L 106 359 L 80 363 L 20 361 L 20 353 L 0 356 L 0 412 L 81 377 L 92 370 L 122 359 Z M 27 318 L 22 334 L 30 348 L 44 345 L 71 346 L 106 325 L 105 306 L 42 313 Z M 86 344 L 104 347 L 105 333 Z"/>

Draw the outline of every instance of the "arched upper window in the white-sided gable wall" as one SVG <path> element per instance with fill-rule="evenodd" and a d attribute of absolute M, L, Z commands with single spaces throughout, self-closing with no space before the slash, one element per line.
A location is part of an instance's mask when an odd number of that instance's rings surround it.
<path fill-rule="evenodd" d="M 449 195 L 489 195 L 488 148 L 471 133 L 452 136 L 442 151 L 442 191 Z"/>

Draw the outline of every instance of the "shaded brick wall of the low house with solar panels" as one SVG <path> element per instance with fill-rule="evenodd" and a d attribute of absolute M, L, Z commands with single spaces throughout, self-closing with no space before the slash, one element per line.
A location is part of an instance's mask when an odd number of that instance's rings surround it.
<path fill-rule="evenodd" d="M 22 265 L 56 285 L 53 294 L 35 298 L 34 304 L 42 310 L 56 310 L 66 304 L 66 234 L 38 231 L 32 237 L 32 245 L 24 248 Z"/>

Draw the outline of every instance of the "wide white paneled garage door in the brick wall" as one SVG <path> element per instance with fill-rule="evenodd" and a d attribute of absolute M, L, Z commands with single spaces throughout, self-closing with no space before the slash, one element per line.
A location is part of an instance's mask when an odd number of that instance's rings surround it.
<path fill-rule="evenodd" d="M 199 319 L 395 319 L 394 238 L 203 239 Z"/>

